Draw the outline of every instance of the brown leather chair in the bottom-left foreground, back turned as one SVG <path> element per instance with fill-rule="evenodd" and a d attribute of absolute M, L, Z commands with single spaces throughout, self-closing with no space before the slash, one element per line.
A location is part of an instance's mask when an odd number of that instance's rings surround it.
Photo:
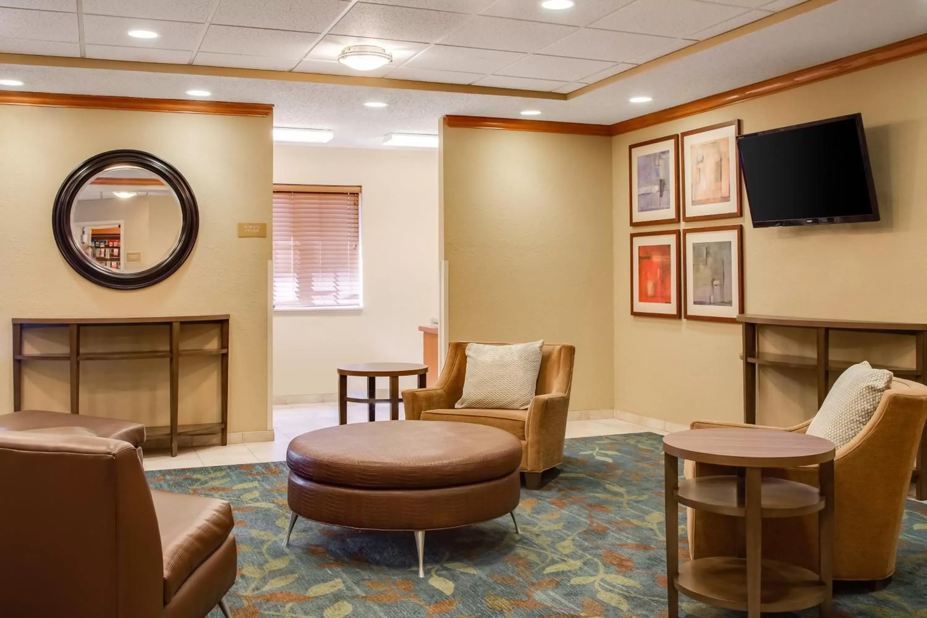
<path fill-rule="evenodd" d="M 128 442 L 0 431 L 0 496 L 0 614 L 229 615 L 228 502 L 150 490 Z"/>

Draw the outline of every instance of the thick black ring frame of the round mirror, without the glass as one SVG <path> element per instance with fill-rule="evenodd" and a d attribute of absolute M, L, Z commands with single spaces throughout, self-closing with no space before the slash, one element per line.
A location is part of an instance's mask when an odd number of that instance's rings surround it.
<path fill-rule="evenodd" d="M 145 271 L 117 273 L 91 263 L 71 233 L 70 210 L 83 185 L 101 171 L 119 164 L 134 165 L 158 174 L 180 202 L 181 233 L 177 245 L 166 259 Z M 61 255 L 84 279 L 114 290 L 135 290 L 164 281 L 190 256 L 199 233 L 197 198 L 184 175 L 167 161 L 141 150 L 110 150 L 88 158 L 61 184 L 52 209 L 52 231 Z"/>

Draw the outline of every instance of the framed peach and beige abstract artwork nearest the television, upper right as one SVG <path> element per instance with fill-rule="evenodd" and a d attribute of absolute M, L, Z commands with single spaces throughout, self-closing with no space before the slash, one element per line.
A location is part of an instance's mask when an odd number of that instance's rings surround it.
<path fill-rule="evenodd" d="M 741 216 L 740 132 L 741 121 L 730 120 L 681 133 L 682 221 Z"/>

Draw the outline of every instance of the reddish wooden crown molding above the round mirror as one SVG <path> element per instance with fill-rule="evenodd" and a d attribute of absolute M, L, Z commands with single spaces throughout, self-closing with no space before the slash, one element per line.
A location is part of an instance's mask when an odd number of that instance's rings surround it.
<path fill-rule="evenodd" d="M 273 116 L 273 105 L 264 103 L 230 103 L 227 101 L 189 101 L 186 99 L 148 99 L 137 96 L 58 95 L 55 93 L 0 92 L 0 105 L 39 107 L 84 107 L 131 111 L 175 111 L 220 116 Z"/>

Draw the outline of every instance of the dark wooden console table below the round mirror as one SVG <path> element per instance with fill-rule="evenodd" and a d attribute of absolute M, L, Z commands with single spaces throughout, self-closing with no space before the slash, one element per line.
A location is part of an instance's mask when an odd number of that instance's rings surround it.
<path fill-rule="evenodd" d="M 218 324 L 219 347 L 181 349 L 180 331 L 184 324 Z M 81 350 L 81 330 L 86 326 L 165 326 L 168 334 L 166 349 L 143 351 L 84 352 Z M 64 353 L 23 353 L 23 331 L 28 328 L 69 329 L 69 350 Z M 220 359 L 221 418 L 219 423 L 179 424 L 180 359 L 192 356 L 218 356 Z M 76 318 L 76 319 L 13 319 L 13 410 L 22 409 L 22 362 L 24 360 L 67 360 L 70 362 L 70 413 L 80 413 L 81 363 L 90 360 L 167 359 L 171 376 L 171 424 L 146 427 L 146 434 L 170 435 L 171 455 L 177 455 L 178 435 L 221 435 L 222 446 L 228 444 L 229 401 L 229 316 L 202 315 L 159 318 Z"/>

